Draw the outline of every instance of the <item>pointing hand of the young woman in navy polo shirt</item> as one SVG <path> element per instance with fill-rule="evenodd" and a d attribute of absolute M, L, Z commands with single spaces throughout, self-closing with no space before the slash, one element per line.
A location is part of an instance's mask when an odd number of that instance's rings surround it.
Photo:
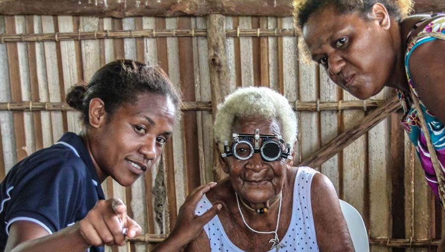
<path fill-rule="evenodd" d="M 125 232 L 126 231 L 126 232 Z M 125 245 L 125 235 L 133 238 L 142 228 L 129 216 L 122 200 L 99 200 L 79 222 L 79 232 L 89 246 Z"/>

